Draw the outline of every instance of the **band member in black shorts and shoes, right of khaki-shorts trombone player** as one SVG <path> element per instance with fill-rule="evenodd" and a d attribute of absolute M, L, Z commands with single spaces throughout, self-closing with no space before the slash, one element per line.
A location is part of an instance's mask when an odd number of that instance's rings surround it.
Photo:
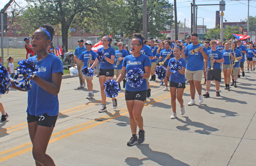
<path fill-rule="evenodd" d="M 210 41 L 211 49 L 208 50 L 208 61 L 206 61 L 206 93 L 204 97 L 210 97 L 210 82 L 215 80 L 216 96 L 220 96 L 220 82 L 221 82 L 221 63 L 224 62 L 221 51 L 216 49 L 217 42 Z"/>

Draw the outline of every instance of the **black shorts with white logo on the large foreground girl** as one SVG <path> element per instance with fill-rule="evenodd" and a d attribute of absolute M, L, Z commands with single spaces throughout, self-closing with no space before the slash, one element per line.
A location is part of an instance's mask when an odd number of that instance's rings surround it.
<path fill-rule="evenodd" d="M 37 125 L 39 126 L 52 127 L 53 125 L 53 127 L 55 127 L 57 118 L 58 116 L 48 116 L 47 114 L 36 117 L 28 113 L 27 121 L 28 123 L 38 121 Z"/>

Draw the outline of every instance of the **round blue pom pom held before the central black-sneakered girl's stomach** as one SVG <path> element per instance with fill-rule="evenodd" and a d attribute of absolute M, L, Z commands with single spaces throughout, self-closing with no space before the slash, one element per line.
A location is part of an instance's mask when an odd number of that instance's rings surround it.
<path fill-rule="evenodd" d="M 140 68 L 133 68 L 127 73 L 127 84 L 133 88 L 140 87 L 143 81 L 143 74 L 144 72 Z"/>

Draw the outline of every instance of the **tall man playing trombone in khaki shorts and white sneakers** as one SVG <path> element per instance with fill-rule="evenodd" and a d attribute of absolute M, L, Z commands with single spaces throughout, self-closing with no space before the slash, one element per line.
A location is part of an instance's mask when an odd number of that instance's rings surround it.
<path fill-rule="evenodd" d="M 199 104 L 203 102 L 201 80 L 203 76 L 204 59 L 205 61 L 208 60 L 207 49 L 205 47 L 199 48 L 198 52 L 195 52 L 195 54 L 191 53 L 191 50 L 202 46 L 202 44 L 198 42 L 197 33 L 191 34 L 191 41 L 192 44 L 189 44 L 188 46 L 186 46 L 186 48 L 183 47 L 183 49 L 185 50 L 184 52 L 182 52 L 182 58 L 187 58 L 185 76 L 186 79 L 189 81 L 191 96 L 191 101 L 188 102 L 188 105 L 196 104 L 196 90 L 198 92 Z"/>

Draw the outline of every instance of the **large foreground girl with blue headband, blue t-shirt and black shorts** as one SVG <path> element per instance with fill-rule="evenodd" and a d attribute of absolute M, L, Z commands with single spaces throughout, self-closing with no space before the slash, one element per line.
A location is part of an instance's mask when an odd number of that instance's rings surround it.
<path fill-rule="evenodd" d="M 53 26 L 43 24 L 32 36 L 32 49 L 36 56 L 29 58 L 39 66 L 38 74 L 33 74 L 32 88 L 28 91 L 28 128 L 33 144 L 33 157 L 37 166 L 55 165 L 53 159 L 46 154 L 58 113 L 58 93 L 63 74 L 61 60 L 49 54 L 47 47 L 55 34 Z M 13 83 L 13 82 L 12 82 Z M 24 91 L 12 84 L 12 88 Z"/>

